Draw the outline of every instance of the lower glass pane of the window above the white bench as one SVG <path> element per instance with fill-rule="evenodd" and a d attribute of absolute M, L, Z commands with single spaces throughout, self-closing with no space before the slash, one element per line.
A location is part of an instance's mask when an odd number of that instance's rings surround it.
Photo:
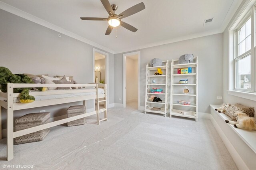
<path fill-rule="evenodd" d="M 251 55 L 237 62 L 237 88 L 251 89 Z"/>

